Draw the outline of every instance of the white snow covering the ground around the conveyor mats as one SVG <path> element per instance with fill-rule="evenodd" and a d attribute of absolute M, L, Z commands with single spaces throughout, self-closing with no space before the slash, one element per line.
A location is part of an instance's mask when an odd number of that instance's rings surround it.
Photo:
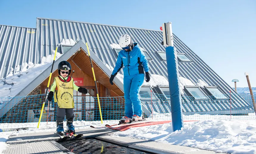
<path fill-rule="evenodd" d="M 162 114 L 153 114 L 154 121 L 161 120 Z M 202 119 L 200 116 L 193 117 Z M 209 116 L 210 117 L 210 116 Z M 184 121 L 190 120 L 190 116 L 183 116 Z M 223 118 L 223 117 L 222 117 Z M 244 119 L 244 117 L 241 117 Z M 143 126 L 131 128 L 126 131 L 115 132 L 114 136 L 125 136 L 136 139 L 154 140 L 156 142 L 170 143 L 188 147 L 215 150 L 218 152 L 227 152 L 232 154 L 254 154 L 256 153 L 256 119 L 252 120 L 218 120 L 218 115 L 212 115 L 212 118 L 201 121 L 184 122 L 184 127 L 180 131 L 173 132 L 172 123 Z M 152 120 L 149 117 L 148 120 Z M 165 119 L 166 120 L 166 119 Z M 193 118 L 195 120 L 195 118 Z M 74 121 L 76 129 L 87 129 L 90 125 L 103 126 L 105 124 L 115 124 L 113 121 Z M 1 124 L 3 125 L 3 124 Z M 39 131 L 55 131 L 55 123 L 41 122 L 39 129 L 37 123 L 27 123 L 28 130 L 15 132 L 0 132 L 0 147 L 4 150 L 7 146 L 6 139 L 10 135 L 20 133 L 32 133 Z M 0 150 L 0 151 L 1 151 Z"/>

